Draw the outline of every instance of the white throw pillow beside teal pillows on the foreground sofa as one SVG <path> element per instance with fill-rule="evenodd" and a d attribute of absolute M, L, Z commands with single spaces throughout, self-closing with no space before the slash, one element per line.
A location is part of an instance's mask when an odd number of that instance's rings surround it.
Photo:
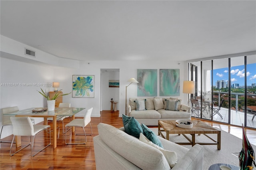
<path fill-rule="evenodd" d="M 174 165 L 177 163 L 178 157 L 177 157 L 176 152 L 173 152 L 170 150 L 165 150 L 165 149 L 157 146 L 156 144 L 154 144 L 153 142 L 148 140 L 148 138 L 146 138 L 146 136 L 144 136 L 142 133 L 140 133 L 140 141 L 160 150 L 163 153 L 164 157 L 166 158 L 166 160 L 171 168 L 173 168 Z"/>

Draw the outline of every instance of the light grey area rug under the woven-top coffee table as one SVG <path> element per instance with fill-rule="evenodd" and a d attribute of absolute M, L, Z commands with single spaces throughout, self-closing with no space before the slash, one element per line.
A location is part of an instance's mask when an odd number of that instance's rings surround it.
<path fill-rule="evenodd" d="M 158 128 L 150 128 L 158 135 Z M 162 132 L 164 136 L 166 136 L 165 132 Z M 242 132 L 241 132 L 242 133 Z M 187 134 L 191 139 L 191 135 Z M 212 137 L 214 140 L 217 140 L 217 134 L 208 134 L 208 136 Z M 188 140 L 178 134 L 170 134 L 169 140 L 172 142 L 188 142 Z M 212 142 L 209 138 L 201 134 L 200 136 L 196 134 L 196 142 Z M 186 148 L 191 148 L 191 145 L 182 145 Z M 229 134 L 221 130 L 221 149 L 217 149 L 217 145 L 202 145 L 204 147 L 204 170 L 208 170 L 208 168 L 212 164 L 224 163 L 224 164 L 232 164 L 239 166 L 238 157 L 234 156 L 232 153 L 237 153 L 242 150 L 242 139 Z M 254 152 L 256 152 L 256 146 L 252 145 Z M 238 154 L 236 154 L 238 155 Z"/>

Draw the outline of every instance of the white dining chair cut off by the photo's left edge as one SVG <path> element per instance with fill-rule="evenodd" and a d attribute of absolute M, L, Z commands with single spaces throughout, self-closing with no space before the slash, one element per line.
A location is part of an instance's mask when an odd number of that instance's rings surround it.
<path fill-rule="evenodd" d="M 19 108 L 18 106 L 14 106 L 14 107 L 6 107 L 6 108 L 3 108 L 2 109 L 2 128 L 1 128 L 1 132 L 0 132 L 0 142 L 4 142 L 4 143 L 11 143 L 11 141 L 2 141 L 1 140 L 1 136 L 2 136 L 2 130 L 5 126 L 12 126 L 12 122 L 11 122 L 11 119 L 10 117 L 13 116 L 13 115 L 3 115 L 3 114 L 6 114 L 6 113 L 12 113 L 12 112 L 16 112 L 16 111 L 19 111 Z M 34 119 L 31 119 L 32 123 L 35 124 L 35 120 Z"/>

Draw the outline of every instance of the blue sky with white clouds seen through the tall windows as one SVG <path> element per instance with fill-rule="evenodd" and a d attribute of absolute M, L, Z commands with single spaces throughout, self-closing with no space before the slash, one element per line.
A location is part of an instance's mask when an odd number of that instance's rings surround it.
<path fill-rule="evenodd" d="M 231 85 L 238 83 L 239 86 L 244 85 L 244 76 L 247 76 L 247 86 L 256 83 L 256 63 L 247 64 L 246 73 L 244 72 L 244 65 L 234 66 L 230 68 Z M 215 86 L 218 80 L 228 81 L 228 67 L 213 70 L 213 85 Z"/>

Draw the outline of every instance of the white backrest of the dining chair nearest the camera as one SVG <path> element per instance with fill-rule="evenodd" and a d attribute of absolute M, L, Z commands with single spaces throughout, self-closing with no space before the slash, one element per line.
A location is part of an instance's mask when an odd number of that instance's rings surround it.
<path fill-rule="evenodd" d="M 13 135 L 34 136 L 34 127 L 29 117 L 10 117 L 13 126 Z"/>

